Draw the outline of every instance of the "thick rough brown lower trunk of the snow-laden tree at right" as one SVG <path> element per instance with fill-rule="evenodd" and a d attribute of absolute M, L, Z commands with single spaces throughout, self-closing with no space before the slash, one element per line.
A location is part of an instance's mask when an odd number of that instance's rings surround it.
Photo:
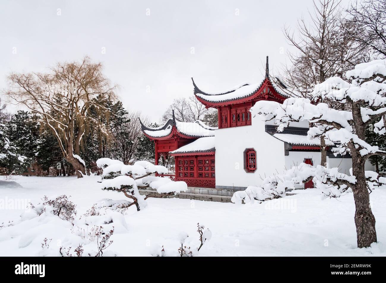
<path fill-rule="evenodd" d="M 357 183 L 352 188 L 355 202 L 355 226 L 358 248 L 367 248 L 377 241 L 375 218 L 370 207 L 369 191 L 364 173 L 364 161 L 359 153 L 352 153 L 352 171 Z"/>

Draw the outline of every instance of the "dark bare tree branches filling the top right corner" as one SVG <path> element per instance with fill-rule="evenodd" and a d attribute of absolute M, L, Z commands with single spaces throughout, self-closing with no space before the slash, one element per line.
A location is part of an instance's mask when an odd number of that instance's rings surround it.
<path fill-rule="evenodd" d="M 375 58 L 386 58 L 386 0 L 355 2 L 347 9 L 342 29 L 362 47 L 371 48 Z"/>

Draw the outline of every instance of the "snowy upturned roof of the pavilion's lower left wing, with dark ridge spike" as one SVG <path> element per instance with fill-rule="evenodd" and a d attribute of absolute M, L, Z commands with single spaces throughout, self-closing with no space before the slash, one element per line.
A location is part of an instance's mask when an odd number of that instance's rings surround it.
<path fill-rule="evenodd" d="M 195 122 L 179 122 L 179 121 L 176 121 L 176 119 L 174 118 L 174 115 L 173 115 L 173 119 L 169 119 L 161 127 L 150 128 L 150 127 L 146 127 L 141 122 L 142 131 L 147 136 L 154 137 L 154 138 L 169 136 L 173 131 L 173 126 L 180 134 L 183 134 L 189 137 L 212 137 L 215 135 L 214 130 L 217 129 L 217 127 L 209 127 L 199 120 Z"/>

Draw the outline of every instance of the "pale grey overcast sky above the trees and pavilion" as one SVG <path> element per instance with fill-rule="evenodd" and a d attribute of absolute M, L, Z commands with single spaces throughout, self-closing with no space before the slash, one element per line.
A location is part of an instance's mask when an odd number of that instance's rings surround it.
<path fill-rule="evenodd" d="M 125 107 L 159 121 L 174 98 L 257 82 L 291 47 L 281 31 L 311 0 L 0 2 L 0 89 L 12 70 L 45 71 L 88 55 Z M 103 52 L 105 51 L 105 52 Z M 288 59 L 287 59 L 288 60 Z"/>

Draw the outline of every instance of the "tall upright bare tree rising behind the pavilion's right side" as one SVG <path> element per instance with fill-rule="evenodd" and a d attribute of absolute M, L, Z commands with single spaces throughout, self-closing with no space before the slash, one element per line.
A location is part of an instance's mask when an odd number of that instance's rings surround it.
<path fill-rule="evenodd" d="M 296 35 L 290 28 L 283 28 L 289 44 L 297 50 L 297 53 L 289 53 L 291 67 L 286 66 L 284 78 L 284 83 L 296 90 L 293 96 L 310 98 L 316 84 L 329 77 L 343 77 L 347 70 L 365 60 L 366 46 L 347 37 L 340 28 L 343 11 L 339 5 L 340 0 L 313 1 L 313 12 L 309 12 L 311 23 L 300 18 Z M 343 106 L 329 99 L 323 102 L 330 107 Z M 327 162 L 327 146 L 323 136 L 320 139 L 320 152 L 321 165 L 324 166 Z"/>

